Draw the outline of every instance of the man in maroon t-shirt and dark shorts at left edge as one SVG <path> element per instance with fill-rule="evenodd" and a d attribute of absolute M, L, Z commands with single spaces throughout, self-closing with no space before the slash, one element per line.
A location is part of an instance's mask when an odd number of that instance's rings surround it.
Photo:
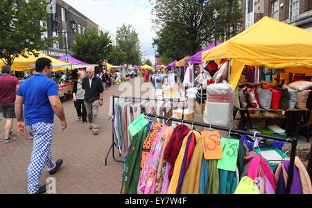
<path fill-rule="evenodd" d="M 2 112 L 4 119 L 4 143 L 8 144 L 9 142 L 16 140 L 15 138 L 12 138 L 12 125 L 13 119 L 15 118 L 14 103 L 16 97 L 16 89 L 19 88 L 19 80 L 14 76 L 10 76 L 10 66 L 1 67 L 1 71 L 0 111 Z"/>

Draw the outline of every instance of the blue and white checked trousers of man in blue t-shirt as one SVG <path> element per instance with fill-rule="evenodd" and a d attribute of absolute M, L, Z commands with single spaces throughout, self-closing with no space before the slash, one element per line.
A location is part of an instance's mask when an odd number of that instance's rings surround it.
<path fill-rule="evenodd" d="M 28 167 L 28 193 L 36 193 L 40 188 L 40 176 L 46 166 L 49 171 L 55 168 L 51 154 L 51 141 L 53 137 L 53 123 L 36 123 L 28 125 L 28 130 L 33 134 L 33 153 L 31 164 Z"/>

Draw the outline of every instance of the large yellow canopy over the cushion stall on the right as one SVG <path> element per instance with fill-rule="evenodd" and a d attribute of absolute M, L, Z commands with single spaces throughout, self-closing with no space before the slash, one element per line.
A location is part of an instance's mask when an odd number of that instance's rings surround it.
<path fill-rule="evenodd" d="M 312 69 L 311 40 L 311 31 L 263 17 L 239 35 L 202 53 L 202 62 L 232 59 L 230 84 L 236 87 L 245 65 Z"/>

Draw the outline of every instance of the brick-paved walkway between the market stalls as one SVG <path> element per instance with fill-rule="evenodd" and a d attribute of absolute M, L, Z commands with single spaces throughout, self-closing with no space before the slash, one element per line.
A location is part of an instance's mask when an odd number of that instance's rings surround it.
<path fill-rule="evenodd" d="M 133 80 L 127 83 L 134 85 Z M 112 154 L 108 157 L 107 166 L 103 161 L 112 144 L 112 122 L 107 121 L 110 96 L 122 93 L 119 91 L 119 85 L 113 85 L 105 91 L 98 136 L 92 134 L 89 124 L 85 125 L 77 120 L 73 101 L 62 103 L 69 125 L 62 131 L 60 121 L 55 119 L 51 150 L 55 160 L 64 159 L 60 171 L 53 175 L 56 179 L 56 193 L 120 193 L 122 164 L 114 162 Z M 13 133 L 17 141 L 11 144 L 0 143 L 0 194 L 27 193 L 26 171 L 31 159 L 33 141 L 28 140 L 28 135 L 17 133 L 16 121 Z M 3 138 L 3 135 L 4 130 L 0 128 L 0 138 Z M 123 157 L 119 158 L 117 155 L 117 159 L 122 160 Z M 42 184 L 48 177 L 50 175 L 45 168 L 41 177 Z"/>

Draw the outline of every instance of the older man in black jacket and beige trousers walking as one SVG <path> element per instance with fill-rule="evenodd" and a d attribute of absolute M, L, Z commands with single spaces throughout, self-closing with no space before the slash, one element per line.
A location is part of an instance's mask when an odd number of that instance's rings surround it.
<path fill-rule="evenodd" d="M 98 135 L 98 110 L 103 105 L 103 83 L 102 79 L 94 76 L 94 71 L 87 68 L 87 76 L 83 79 L 83 91 L 85 94 L 85 107 L 89 122 L 92 123 L 94 135 Z"/>

